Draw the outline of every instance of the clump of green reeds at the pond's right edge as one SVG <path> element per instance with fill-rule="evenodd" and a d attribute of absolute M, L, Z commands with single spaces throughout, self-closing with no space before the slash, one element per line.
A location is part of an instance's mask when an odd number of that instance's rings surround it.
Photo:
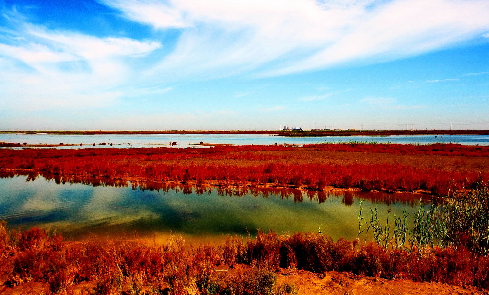
<path fill-rule="evenodd" d="M 465 247 L 468 250 L 489 254 L 489 190 L 478 189 L 459 192 L 439 204 L 419 204 L 418 211 L 409 226 L 409 213 L 393 214 L 390 209 L 386 222 L 378 217 L 378 203 L 370 209 L 371 217 L 367 232 L 372 230 L 373 240 L 386 248 L 397 248 L 421 252 L 427 247 Z M 358 217 L 358 239 L 363 232 L 362 208 Z"/>

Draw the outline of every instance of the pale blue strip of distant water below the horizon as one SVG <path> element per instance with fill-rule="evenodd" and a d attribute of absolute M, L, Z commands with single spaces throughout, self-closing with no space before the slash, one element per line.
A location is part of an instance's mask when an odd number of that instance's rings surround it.
<path fill-rule="evenodd" d="M 248 134 L 153 134 L 153 135 L 53 135 L 53 134 L 0 134 L 0 142 L 34 144 L 73 144 L 62 148 L 149 148 L 168 146 L 176 142 L 176 148 L 194 147 L 199 142 L 233 145 L 315 144 L 320 142 L 369 142 L 400 144 L 459 143 L 463 145 L 489 145 L 489 135 L 393 135 L 393 136 L 337 136 L 337 137 L 283 137 Z M 99 145 L 105 142 L 107 145 Z M 110 146 L 108 144 L 112 143 Z M 79 144 L 82 144 L 80 147 Z"/>

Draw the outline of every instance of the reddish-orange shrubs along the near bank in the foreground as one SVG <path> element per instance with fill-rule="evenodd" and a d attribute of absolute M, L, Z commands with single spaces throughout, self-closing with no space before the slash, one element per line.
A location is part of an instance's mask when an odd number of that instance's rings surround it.
<path fill-rule="evenodd" d="M 466 249 L 392 250 L 370 243 L 354 247 L 319 234 L 256 239 L 228 237 L 220 245 L 185 247 L 131 240 L 67 242 L 46 230 L 8 231 L 0 224 L 0 281 L 47 285 L 48 294 L 291 294 L 277 284 L 279 268 L 325 274 L 346 271 L 387 279 L 442 282 L 489 288 L 489 258 Z M 245 264 L 246 272 L 221 272 Z M 7 287 L 8 288 L 8 287 Z M 4 289 L 5 290 L 5 289 Z"/>

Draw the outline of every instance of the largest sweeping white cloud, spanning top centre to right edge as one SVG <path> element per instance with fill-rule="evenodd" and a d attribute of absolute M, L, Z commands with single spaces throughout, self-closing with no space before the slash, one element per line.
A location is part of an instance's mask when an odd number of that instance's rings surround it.
<path fill-rule="evenodd" d="M 377 63 L 442 49 L 489 30 L 487 0 L 102 0 L 132 21 L 179 28 L 150 73 L 273 76 Z"/>

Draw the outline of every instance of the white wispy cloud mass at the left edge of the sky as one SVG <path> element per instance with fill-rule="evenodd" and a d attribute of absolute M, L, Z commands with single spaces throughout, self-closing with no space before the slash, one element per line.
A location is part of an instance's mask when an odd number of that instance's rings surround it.
<path fill-rule="evenodd" d="M 169 91 L 132 85 L 131 60 L 161 47 L 156 41 L 99 38 L 22 23 L 0 43 L 0 97 L 6 109 L 107 106 L 119 97 Z"/>

